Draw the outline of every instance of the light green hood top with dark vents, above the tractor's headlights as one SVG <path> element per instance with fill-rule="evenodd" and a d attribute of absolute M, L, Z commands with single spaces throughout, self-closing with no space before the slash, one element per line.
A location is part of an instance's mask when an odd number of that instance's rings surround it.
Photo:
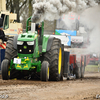
<path fill-rule="evenodd" d="M 18 36 L 18 41 L 34 41 L 37 38 L 37 32 L 35 33 L 23 33 Z"/>

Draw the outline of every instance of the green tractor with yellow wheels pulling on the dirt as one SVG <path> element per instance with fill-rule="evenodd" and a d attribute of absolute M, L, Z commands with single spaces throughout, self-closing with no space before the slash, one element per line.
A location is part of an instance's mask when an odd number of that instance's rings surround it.
<path fill-rule="evenodd" d="M 63 77 L 63 51 L 61 40 L 44 36 L 42 22 L 41 35 L 29 26 L 27 20 L 26 33 L 10 37 L 7 41 L 5 59 L 1 64 L 2 79 L 39 78 L 41 81 L 59 81 Z"/>

